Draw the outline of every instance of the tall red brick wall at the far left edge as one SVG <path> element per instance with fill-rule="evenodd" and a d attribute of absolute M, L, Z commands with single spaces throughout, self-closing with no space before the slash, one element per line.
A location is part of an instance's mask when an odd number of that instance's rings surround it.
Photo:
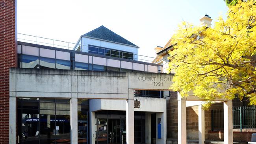
<path fill-rule="evenodd" d="M 16 67 L 15 0 L 0 1 L 0 144 L 9 143 L 9 68 Z"/>

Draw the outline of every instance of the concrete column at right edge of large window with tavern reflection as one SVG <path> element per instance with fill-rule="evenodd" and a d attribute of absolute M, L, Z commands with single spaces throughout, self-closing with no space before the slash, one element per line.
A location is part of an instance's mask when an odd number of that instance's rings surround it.
<path fill-rule="evenodd" d="M 71 98 L 70 100 L 70 133 L 71 144 L 78 143 L 78 127 L 77 127 L 77 98 Z"/>

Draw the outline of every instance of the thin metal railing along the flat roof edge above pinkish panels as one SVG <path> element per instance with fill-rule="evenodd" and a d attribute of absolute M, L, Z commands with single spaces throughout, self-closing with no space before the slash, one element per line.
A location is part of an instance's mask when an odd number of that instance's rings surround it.
<path fill-rule="evenodd" d="M 82 49 L 82 52 L 95 53 L 95 51 L 90 51 L 88 49 L 88 47 L 89 47 L 88 44 L 82 45 L 82 44 L 78 44 L 78 43 L 59 41 L 59 40 L 55 40 L 55 39 L 48 39 L 48 38 L 44 38 L 44 37 L 37 37 L 37 36 L 26 35 L 26 34 L 22 34 L 22 33 L 18 33 L 17 40 L 20 42 L 28 42 L 28 43 L 40 44 L 40 45 L 44 45 L 44 46 L 52 46 L 55 48 L 63 48 L 63 49 L 67 49 L 67 50 L 75 50 L 76 48 L 78 48 L 80 46 L 80 50 Z M 138 54 L 133 54 L 133 57 L 127 57 L 127 56 L 123 56 L 123 55 L 121 57 L 120 53 L 119 53 L 119 55 L 105 53 L 105 50 L 109 50 L 108 48 L 95 47 L 95 46 L 91 46 L 91 47 L 98 48 L 98 49 L 104 49 L 104 52 L 97 52 L 97 54 L 100 54 L 100 55 L 119 57 L 119 58 L 124 58 L 124 59 L 132 59 L 135 61 L 142 61 L 142 62 L 147 62 L 147 63 L 152 63 L 152 61 L 157 59 L 156 57 L 149 57 L 149 56 L 138 55 Z M 112 49 L 111 49 L 111 51 L 112 52 L 122 52 L 122 51 L 112 50 Z M 127 52 L 127 53 L 129 53 L 129 52 Z M 158 62 L 163 61 L 163 59 L 157 59 L 157 60 L 158 60 Z"/>

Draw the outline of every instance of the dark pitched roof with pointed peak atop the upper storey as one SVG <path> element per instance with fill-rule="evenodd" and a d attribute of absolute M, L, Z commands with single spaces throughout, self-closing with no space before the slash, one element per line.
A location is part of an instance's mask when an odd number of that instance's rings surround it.
<path fill-rule="evenodd" d="M 120 35 L 118 35 L 118 34 L 114 33 L 113 31 L 109 30 L 105 26 L 100 26 L 100 27 L 88 32 L 88 33 L 85 33 L 83 36 L 93 37 L 93 38 L 96 38 L 96 39 L 103 39 L 103 40 L 107 40 L 107 41 L 118 42 L 118 43 L 121 43 L 121 44 L 128 44 L 128 45 L 131 45 L 131 46 L 136 46 L 132 42 L 124 39 Z M 136 46 L 136 47 L 138 47 L 138 46 Z"/>

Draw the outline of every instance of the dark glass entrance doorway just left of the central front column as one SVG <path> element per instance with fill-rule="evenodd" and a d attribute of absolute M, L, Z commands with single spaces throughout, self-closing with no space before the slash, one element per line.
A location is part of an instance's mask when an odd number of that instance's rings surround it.
<path fill-rule="evenodd" d="M 120 119 L 109 119 L 108 120 L 108 143 L 109 144 L 120 144 L 121 142 L 121 130 L 120 130 Z"/>

